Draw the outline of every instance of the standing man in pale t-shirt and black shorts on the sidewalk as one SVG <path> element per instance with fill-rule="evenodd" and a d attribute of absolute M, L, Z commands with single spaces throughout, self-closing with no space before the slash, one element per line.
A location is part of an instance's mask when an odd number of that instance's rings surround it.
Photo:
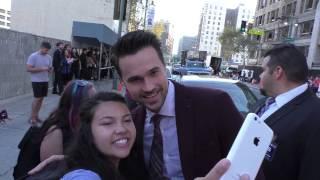
<path fill-rule="evenodd" d="M 32 53 L 27 61 L 27 71 L 30 72 L 34 100 L 29 123 L 32 126 L 41 123 L 39 111 L 43 98 L 48 94 L 49 73 L 52 71 L 52 58 L 48 55 L 51 45 L 42 42 L 40 50 Z"/>

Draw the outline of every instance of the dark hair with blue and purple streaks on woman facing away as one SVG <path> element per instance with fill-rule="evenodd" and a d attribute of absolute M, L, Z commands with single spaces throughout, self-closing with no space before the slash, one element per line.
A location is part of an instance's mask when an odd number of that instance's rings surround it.
<path fill-rule="evenodd" d="M 78 81 L 79 80 L 71 81 L 65 87 L 59 100 L 58 107 L 50 113 L 41 128 L 41 137 L 39 137 L 39 141 L 42 141 L 47 133 L 52 132 L 56 128 L 62 130 L 63 137 L 72 136 L 78 129 L 80 123 L 80 104 L 89 98 L 90 89 L 93 88 L 91 83 L 81 86 L 78 85 Z M 48 132 L 52 126 L 55 126 L 55 128 Z"/>

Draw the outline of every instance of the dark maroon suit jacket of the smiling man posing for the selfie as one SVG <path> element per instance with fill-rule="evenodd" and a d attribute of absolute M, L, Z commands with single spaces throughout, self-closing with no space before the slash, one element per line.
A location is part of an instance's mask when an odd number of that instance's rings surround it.
<path fill-rule="evenodd" d="M 186 180 L 205 176 L 225 158 L 243 118 L 225 92 L 174 83 L 176 123 L 182 172 Z M 130 156 L 120 171 L 128 179 L 148 179 L 143 155 L 145 108 L 133 112 L 137 129 Z"/>

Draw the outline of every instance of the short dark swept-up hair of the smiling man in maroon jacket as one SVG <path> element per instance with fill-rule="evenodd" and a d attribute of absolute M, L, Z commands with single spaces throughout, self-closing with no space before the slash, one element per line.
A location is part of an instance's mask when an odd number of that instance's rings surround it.
<path fill-rule="evenodd" d="M 161 52 L 161 43 L 155 34 L 138 30 L 129 32 L 118 40 L 112 47 L 112 61 L 120 77 L 122 77 L 122 74 L 119 67 L 119 59 L 127 55 L 133 55 L 149 46 L 157 51 L 162 64 L 165 64 Z"/>

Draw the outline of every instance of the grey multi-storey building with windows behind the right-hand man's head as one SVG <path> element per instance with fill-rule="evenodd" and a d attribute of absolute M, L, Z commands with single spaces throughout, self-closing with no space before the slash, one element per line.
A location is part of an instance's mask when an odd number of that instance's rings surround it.
<path fill-rule="evenodd" d="M 274 45 L 292 43 L 305 54 L 310 69 L 319 69 L 320 57 L 309 56 L 310 50 L 312 54 L 319 54 L 320 51 L 320 28 L 317 26 L 314 29 L 318 2 L 319 0 L 258 1 L 254 28 L 264 32 L 255 37 L 260 41 L 256 52 L 258 64 L 261 64 L 263 53 Z"/>

